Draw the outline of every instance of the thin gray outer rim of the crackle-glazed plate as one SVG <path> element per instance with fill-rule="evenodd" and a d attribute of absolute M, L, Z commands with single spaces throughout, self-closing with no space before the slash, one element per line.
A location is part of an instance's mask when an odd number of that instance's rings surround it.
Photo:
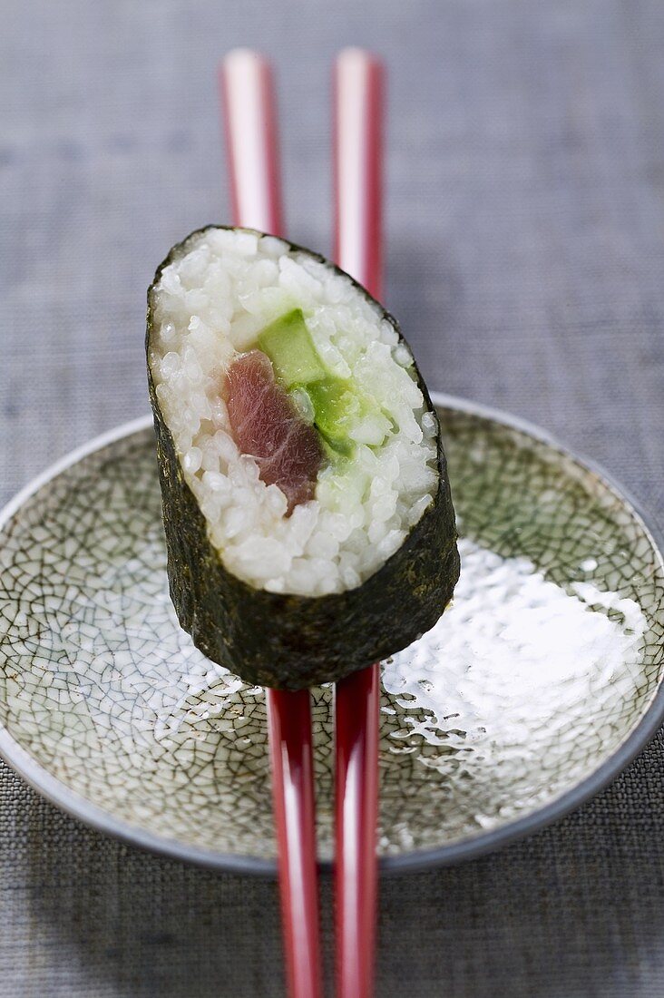
<path fill-rule="evenodd" d="M 571 458 L 574 463 L 596 475 L 616 495 L 630 513 L 641 522 L 654 551 L 664 562 L 664 534 L 659 525 L 646 514 L 640 503 L 621 485 L 612 474 L 607 472 L 596 461 L 586 458 L 578 452 L 560 443 L 552 434 L 541 427 L 500 409 L 475 402 L 470 399 L 443 392 L 432 391 L 431 401 L 436 406 L 456 410 L 468 415 L 498 422 L 508 429 L 516 430 L 531 437 L 539 443 L 553 448 L 561 455 Z M 64 457 L 54 462 L 25 485 L 0 510 L 0 531 L 8 521 L 39 489 L 49 481 L 62 474 L 68 468 L 77 464 L 83 458 L 98 450 L 115 443 L 124 437 L 132 436 L 148 429 L 152 425 L 151 415 L 140 416 L 129 422 L 122 423 L 105 433 L 88 440 L 74 448 Z M 630 732 L 625 741 L 604 762 L 584 777 L 575 786 L 554 797 L 532 813 L 508 821 L 499 828 L 479 832 L 469 838 L 450 842 L 429 849 L 417 849 L 401 855 L 382 856 L 379 859 L 380 872 L 406 873 L 430 869 L 436 866 L 451 865 L 462 859 L 484 855 L 518 839 L 531 835 L 551 822 L 564 817 L 575 810 L 600 790 L 612 782 L 623 769 L 646 747 L 656 732 L 664 723 L 664 678 L 660 680 L 659 688 L 645 714 Z M 258 876 L 275 877 L 277 875 L 277 860 L 260 856 L 239 855 L 237 853 L 219 852 L 214 849 L 204 849 L 188 845 L 178 839 L 169 838 L 156 832 L 146 831 L 139 825 L 118 818 L 112 811 L 92 803 L 70 789 L 66 783 L 52 775 L 40 762 L 24 749 L 0 725 L 0 755 L 33 789 L 43 797 L 66 811 L 72 817 L 83 821 L 97 831 L 137 846 L 149 852 L 157 853 L 171 859 L 180 859 L 214 869 L 231 873 L 254 874 Z M 332 869 L 331 860 L 320 860 L 324 871 Z"/>

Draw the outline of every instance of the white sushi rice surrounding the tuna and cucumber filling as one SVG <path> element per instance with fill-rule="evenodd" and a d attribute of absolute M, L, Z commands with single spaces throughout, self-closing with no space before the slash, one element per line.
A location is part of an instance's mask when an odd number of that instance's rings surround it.
<path fill-rule="evenodd" d="M 213 545 L 256 588 L 322 596 L 360 585 L 400 547 L 437 488 L 436 420 L 409 350 L 347 277 L 281 240 L 213 229 L 186 250 L 155 288 L 150 366 Z M 222 393 L 238 353 L 294 307 L 330 373 L 352 376 L 384 415 L 354 428 L 353 460 L 322 468 L 315 498 L 287 516 L 282 490 L 239 452 Z"/>

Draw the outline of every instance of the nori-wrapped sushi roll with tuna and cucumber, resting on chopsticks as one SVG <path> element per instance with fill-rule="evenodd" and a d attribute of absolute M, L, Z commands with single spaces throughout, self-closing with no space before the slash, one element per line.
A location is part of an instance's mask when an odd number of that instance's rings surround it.
<path fill-rule="evenodd" d="M 209 227 L 158 268 L 146 349 L 171 598 L 201 651 L 297 690 L 435 624 L 459 573 L 438 421 L 364 288 Z"/>

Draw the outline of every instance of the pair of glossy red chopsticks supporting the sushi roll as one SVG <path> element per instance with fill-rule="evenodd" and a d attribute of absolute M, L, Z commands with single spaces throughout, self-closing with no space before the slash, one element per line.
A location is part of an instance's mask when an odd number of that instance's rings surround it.
<path fill-rule="evenodd" d="M 334 258 L 378 297 L 381 283 L 382 71 L 359 49 L 333 76 Z M 270 65 L 247 49 L 220 71 L 236 225 L 283 235 L 276 102 Z M 282 920 L 292 998 L 323 994 L 316 804 L 308 691 L 268 690 Z M 378 806 L 378 666 L 336 684 L 336 993 L 369 998 L 373 986 Z"/>

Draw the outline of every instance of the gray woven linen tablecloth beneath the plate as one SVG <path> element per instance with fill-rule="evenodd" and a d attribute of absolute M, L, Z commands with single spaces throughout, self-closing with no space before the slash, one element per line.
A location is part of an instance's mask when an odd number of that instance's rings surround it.
<path fill-rule="evenodd" d="M 147 411 L 155 263 L 228 220 L 215 66 L 233 46 L 278 64 L 290 233 L 329 250 L 348 43 L 389 68 L 386 300 L 429 384 L 547 427 L 661 522 L 661 0 L 5 2 L 2 497 Z M 385 880 L 379 995 L 664 994 L 663 763 L 659 737 L 535 837 Z M 6 766 L 0 891 L 1 998 L 283 994 L 274 883 L 111 841 Z"/>

